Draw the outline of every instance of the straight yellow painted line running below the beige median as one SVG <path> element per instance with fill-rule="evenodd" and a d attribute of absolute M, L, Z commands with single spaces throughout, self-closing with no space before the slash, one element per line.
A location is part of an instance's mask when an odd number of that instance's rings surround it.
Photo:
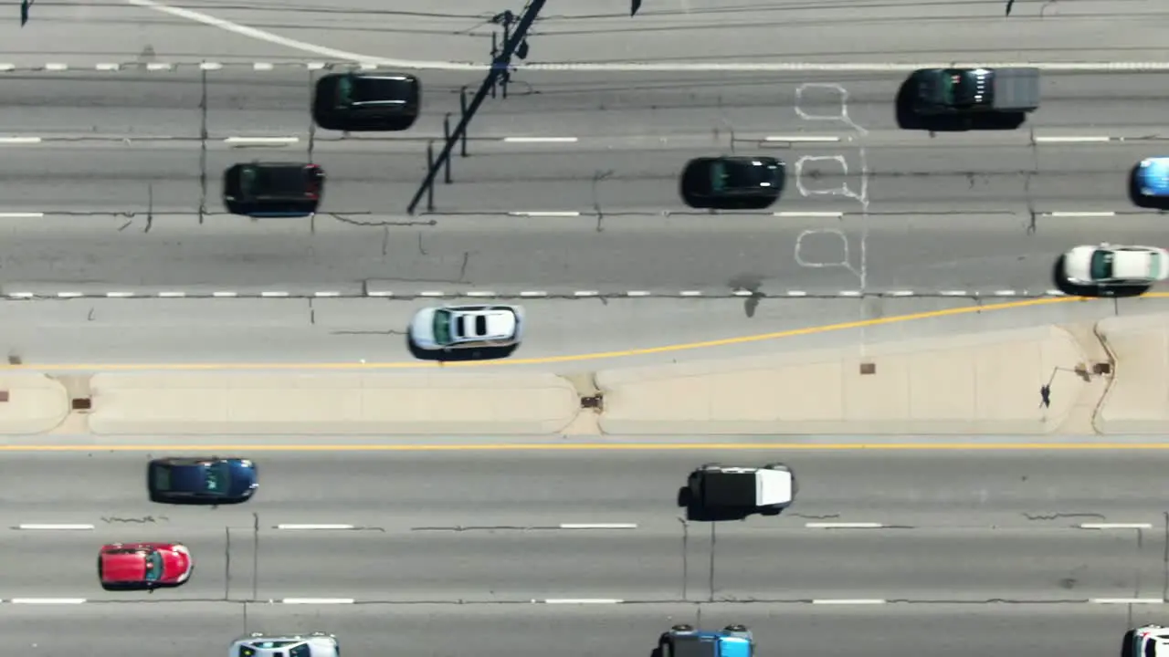
<path fill-rule="evenodd" d="M 1028 443 L 498 443 L 498 444 L 154 444 L 154 445 L 0 445 L 0 451 L 147 451 L 147 452 L 255 452 L 255 451 L 1100 451 L 1169 450 L 1164 443 L 1028 442 Z"/>

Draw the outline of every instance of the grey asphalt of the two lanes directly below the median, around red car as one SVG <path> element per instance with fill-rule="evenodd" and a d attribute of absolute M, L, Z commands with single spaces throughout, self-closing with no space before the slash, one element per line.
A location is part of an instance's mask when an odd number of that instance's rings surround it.
<path fill-rule="evenodd" d="M 1082 455 L 795 454 L 801 495 L 782 517 L 680 521 L 678 486 L 715 458 L 262 455 L 255 500 L 213 510 L 144 502 L 141 455 L 14 454 L 21 482 L 37 486 L 0 487 L 11 554 L 0 578 L 8 597 L 91 601 L 1087 603 L 1164 594 L 1158 456 L 1113 457 L 1111 471 L 1123 476 L 1108 477 Z M 95 472 L 109 482 L 96 495 L 79 483 Z M 94 528 L 19 528 L 54 523 Z M 353 528 L 288 526 L 321 524 Z M 196 574 L 153 594 L 103 592 L 97 548 L 132 540 L 184 542 Z"/>

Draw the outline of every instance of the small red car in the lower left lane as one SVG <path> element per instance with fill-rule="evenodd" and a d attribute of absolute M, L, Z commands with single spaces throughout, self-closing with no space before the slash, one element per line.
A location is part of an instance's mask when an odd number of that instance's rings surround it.
<path fill-rule="evenodd" d="M 191 579 L 195 561 L 177 542 L 115 542 L 102 546 L 97 578 L 105 589 L 177 587 Z"/>

